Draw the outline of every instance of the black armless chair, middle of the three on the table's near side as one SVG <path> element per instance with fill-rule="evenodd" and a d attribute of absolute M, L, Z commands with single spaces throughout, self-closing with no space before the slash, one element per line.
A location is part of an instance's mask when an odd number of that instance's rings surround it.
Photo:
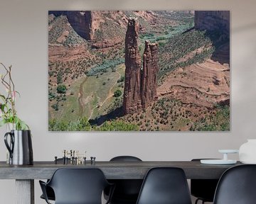
<path fill-rule="evenodd" d="M 137 204 L 191 204 L 183 169 L 156 167 L 146 174 Z"/>

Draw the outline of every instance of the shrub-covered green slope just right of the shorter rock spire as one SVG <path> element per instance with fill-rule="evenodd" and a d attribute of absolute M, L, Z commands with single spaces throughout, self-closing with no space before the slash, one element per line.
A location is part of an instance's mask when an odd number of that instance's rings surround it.
<path fill-rule="evenodd" d="M 201 50 L 198 50 L 199 48 Z M 166 73 L 177 67 L 203 62 L 213 54 L 214 48 L 205 31 L 191 30 L 170 38 L 164 46 L 159 48 L 159 52 L 158 78 L 161 79 Z M 188 60 L 182 60 L 188 54 L 191 54 L 191 57 Z"/>

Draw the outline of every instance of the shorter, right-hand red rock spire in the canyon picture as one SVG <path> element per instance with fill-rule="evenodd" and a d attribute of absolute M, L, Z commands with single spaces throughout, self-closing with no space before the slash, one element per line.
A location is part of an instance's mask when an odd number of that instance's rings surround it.
<path fill-rule="evenodd" d="M 156 98 L 156 74 L 158 72 L 158 44 L 145 41 L 142 70 L 142 108 L 147 108 Z"/>

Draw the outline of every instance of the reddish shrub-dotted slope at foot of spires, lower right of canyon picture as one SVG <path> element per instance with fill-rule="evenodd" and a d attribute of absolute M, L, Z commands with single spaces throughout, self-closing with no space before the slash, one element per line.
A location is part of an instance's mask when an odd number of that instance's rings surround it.
<path fill-rule="evenodd" d="M 120 121 L 139 126 L 141 131 L 227 131 L 230 130 L 229 106 L 198 107 L 172 98 L 159 98 L 149 108 Z"/>

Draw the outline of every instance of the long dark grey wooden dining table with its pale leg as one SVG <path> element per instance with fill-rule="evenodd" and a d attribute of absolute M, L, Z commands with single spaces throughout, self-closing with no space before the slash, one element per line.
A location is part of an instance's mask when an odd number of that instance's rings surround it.
<path fill-rule="evenodd" d="M 179 167 L 187 179 L 219 179 L 231 166 L 201 164 L 200 161 L 159 161 L 159 162 L 95 162 L 91 164 L 63 164 L 62 162 L 34 162 L 33 165 L 14 166 L 0 162 L 0 179 L 16 180 L 16 203 L 34 204 L 34 179 L 50 179 L 59 168 L 99 168 L 107 179 L 144 179 L 149 169 L 157 166 Z"/>

